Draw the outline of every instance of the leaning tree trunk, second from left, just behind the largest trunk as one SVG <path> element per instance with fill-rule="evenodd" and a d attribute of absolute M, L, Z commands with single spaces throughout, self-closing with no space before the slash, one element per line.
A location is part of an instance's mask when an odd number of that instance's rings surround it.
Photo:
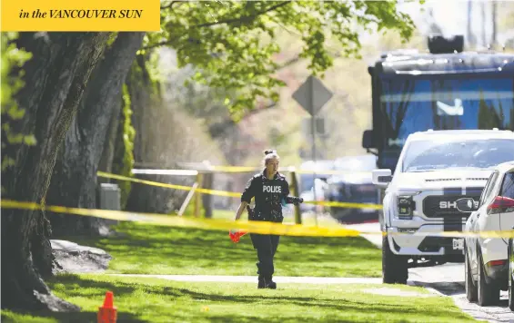
<path fill-rule="evenodd" d="M 86 209 L 98 207 L 96 171 L 111 119 L 120 113 L 122 84 L 144 34 L 119 33 L 96 67 L 81 107 L 66 133 L 62 155 L 55 164 L 48 203 Z M 52 214 L 50 220 L 56 235 L 106 233 L 106 220 L 68 214 Z"/>

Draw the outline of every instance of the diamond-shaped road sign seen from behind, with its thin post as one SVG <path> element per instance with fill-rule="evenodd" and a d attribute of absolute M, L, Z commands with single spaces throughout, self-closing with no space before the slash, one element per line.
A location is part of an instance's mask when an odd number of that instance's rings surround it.
<path fill-rule="evenodd" d="M 316 76 L 310 75 L 307 77 L 306 82 L 300 85 L 295 93 L 293 93 L 293 99 L 297 101 L 304 108 L 311 117 L 311 130 L 312 136 L 312 161 L 316 165 L 316 115 L 319 113 L 321 108 L 330 101 L 333 93 L 328 90 Z M 316 167 L 316 166 L 315 166 Z M 312 174 L 312 192 L 314 201 L 317 201 L 316 194 L 316 170 Z M 314 210 L 316 214 L 316 225 L 317 225 L 317 204 L 314 204 Z"/>

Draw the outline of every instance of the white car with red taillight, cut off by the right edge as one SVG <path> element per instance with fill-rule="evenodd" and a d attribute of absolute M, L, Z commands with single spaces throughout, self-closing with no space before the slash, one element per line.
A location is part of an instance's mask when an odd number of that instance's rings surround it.
<path fill-rule="evenodd" d="M 510 152 L 508 151 L 510 150 Z M 512 144 L 502 152 L 512 160 Z M 466 232 L 512 230 L 514 227 L 514 162 L 500 164 L 489 177 L 479 200 L 462 199 L 459 210 L 475 210 L 466 222 Z M 508 238 L 466 237 L 464 249 L 466 296 L 480 306 L 499 302 L 499 289 L 509 281 Z M 512 295 L 509 290 L 509 304 Z"/>

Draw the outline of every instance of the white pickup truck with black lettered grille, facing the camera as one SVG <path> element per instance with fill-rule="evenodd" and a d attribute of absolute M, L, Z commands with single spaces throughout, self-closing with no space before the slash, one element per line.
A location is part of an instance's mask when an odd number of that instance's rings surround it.
<path fill-rule="evenodd" d="M 514 160 L 514 132 L 448 130 L 408 136 L 394 176 L 373 171 L 387 188 L 381 230 L 384 283 L 407 283 L 408 268 L 463 262 L 464 239 L 430 233 L 462 231 L 469 211 L 456 201 L 479 199 L 492 169 Z M 419 234 L 418 234 L 419 233 Z"/>

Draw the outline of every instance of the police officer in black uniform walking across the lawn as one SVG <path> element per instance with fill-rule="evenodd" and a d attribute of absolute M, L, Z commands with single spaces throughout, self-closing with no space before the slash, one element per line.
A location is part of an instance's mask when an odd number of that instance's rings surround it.
<path fill-rule="evenodd" d="M 254 175 L 248 182 L 241 204 L 237 209 L 235 220 L 239 220 L 243 211 L 255 197 L 255 209 L 248 210 L 248 220 L 263 220 L 282 223 L 282 205 L 286 203 L 301 203 L 303 199 L 290 197 L 289 184 L 286 177 L 278 172 L 280 157 L 277 152 L 264 152 L 264 167 L 262 172 Z M 250 233 L 254 249 L 257 250 L 258 289 L 277 289 L 272 276 L 275 271 L 273 258 L 277 252 L 278 235 Z"/>

